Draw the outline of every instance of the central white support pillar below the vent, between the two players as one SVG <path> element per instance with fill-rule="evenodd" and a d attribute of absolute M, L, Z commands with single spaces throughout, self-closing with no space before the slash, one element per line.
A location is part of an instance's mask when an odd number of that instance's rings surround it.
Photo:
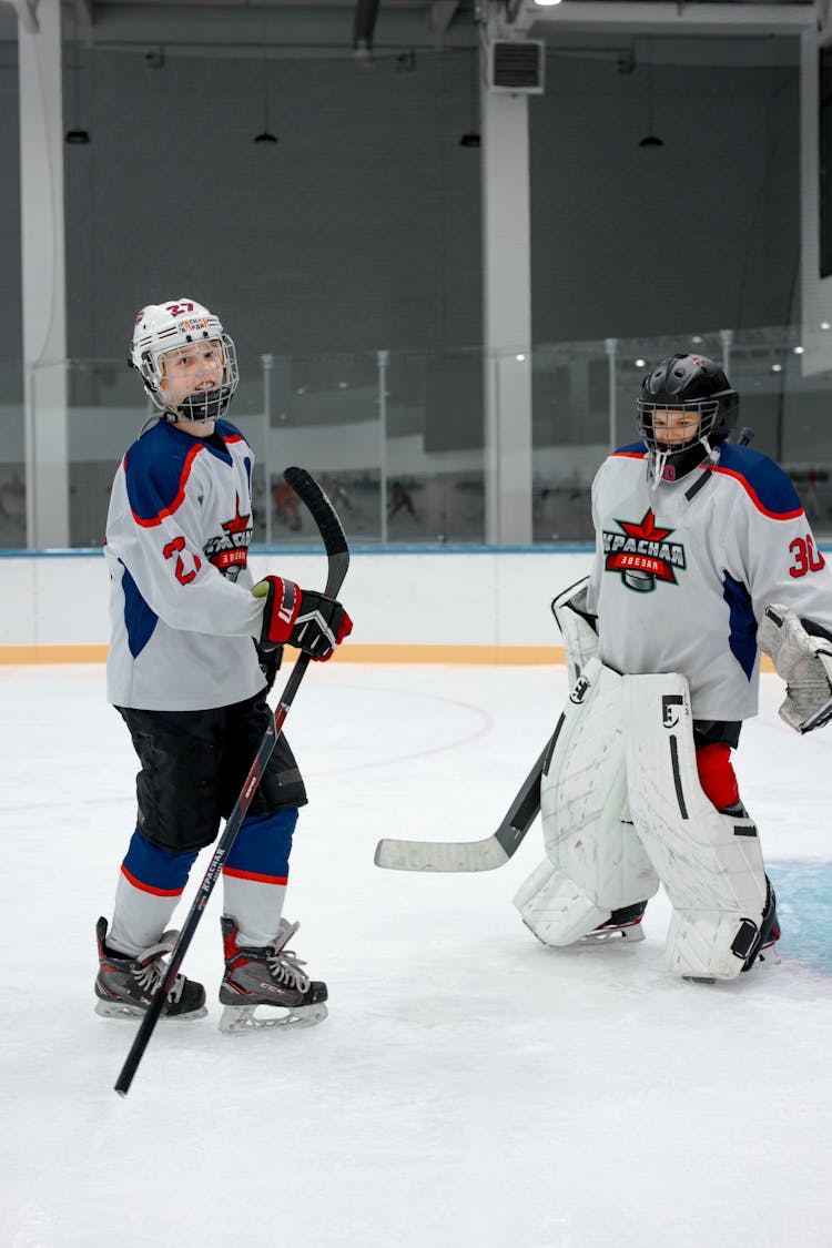
<path fill-rule="evenodd" d="M 480 84 L 488 47 L 480 45 Z M 528 99 L 480 86 L 485 540 L 531 542 Z"/>

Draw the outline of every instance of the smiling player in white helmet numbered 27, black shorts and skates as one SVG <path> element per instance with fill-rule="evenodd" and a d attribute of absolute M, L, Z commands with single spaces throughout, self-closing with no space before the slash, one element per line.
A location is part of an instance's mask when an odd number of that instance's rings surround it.
<path fill-rule="evenodd" d="M 136 1016 L 165 973 L 166 932 L 198 851 L 231 814 L 271 721 L 258 661 L 282 644 L 328 659 L 351 631 L 339 603 L 267 577 L 252 593 L 253 456 L 223 419 L 238 381 L 235 346 L 193 300 L 136 317 L 128 363 L 158 417 L 127 451 L 112 485 L 107 696 L 141 770 L 136 830 L 121 866 L 112 922 L 100 919 L 96 1011 Z M 283 735 L 223 867 L 225 1031 L 311 1025 L 327 987 L 287 947 L 282 919 L 292 835 L 306 791 Z M 206 1013 L 202 985 L 180 975 L 165 1015 Z"/>

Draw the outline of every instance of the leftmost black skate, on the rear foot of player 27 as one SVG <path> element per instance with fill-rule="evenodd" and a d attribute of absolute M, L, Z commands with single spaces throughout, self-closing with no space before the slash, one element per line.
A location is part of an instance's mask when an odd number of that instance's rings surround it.
<path fill-rule="evenodd" d="M 95 1012 L 105 1018 L 141 1018 L 165 975 L 162 955 L 173 948 L 178 932 L 165 932 L 158 945 L 142 950 L 138 957 L 107 948 L 106 919 L 99 919 L 95 934 L 99 938 Z M 207 1012 L 202 985 L 177 975 L 162 1006 L 162 1018 L 205 1018 Z"/>

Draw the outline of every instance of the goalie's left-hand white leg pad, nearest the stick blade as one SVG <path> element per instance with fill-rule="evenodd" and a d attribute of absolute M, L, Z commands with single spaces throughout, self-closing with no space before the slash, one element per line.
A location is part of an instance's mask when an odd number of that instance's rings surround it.
<path fill-rule="evenodd" d="M 540 782 L 548 861 L 514 897 L 548 945 L 571 945 L 611 911 L 651 897 L 659 877 L 626 804 L 621 676 L 588 661 L 555 734 Z"/>

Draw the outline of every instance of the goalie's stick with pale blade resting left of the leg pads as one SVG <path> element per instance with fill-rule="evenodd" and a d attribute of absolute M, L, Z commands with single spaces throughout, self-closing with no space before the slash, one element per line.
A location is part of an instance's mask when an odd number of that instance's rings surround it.
<path fill-rule="evenodd" d="M 375 866 L 392 871 L 493 871 L 518 849 L 540 810 L 540 778 L 554 749 L 560 724 L 523 781 L 493 836 L 481 841 L 394 841 L 375 846 Z"/>

